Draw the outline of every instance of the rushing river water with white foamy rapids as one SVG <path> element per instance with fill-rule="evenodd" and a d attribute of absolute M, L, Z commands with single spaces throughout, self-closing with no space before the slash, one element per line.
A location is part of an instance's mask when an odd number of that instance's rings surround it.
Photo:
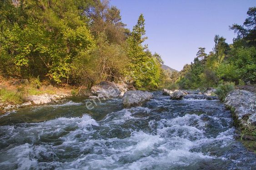
<path fill-rule="evenodd" d="M 253 170 L 256 155 L 233 138 L 230 111 L 196 95 L 161 92 L 142 107 L 87 98 L 0 117 L 0 170 Z M 196 98 L 196 99 L 195 99 Z"/>

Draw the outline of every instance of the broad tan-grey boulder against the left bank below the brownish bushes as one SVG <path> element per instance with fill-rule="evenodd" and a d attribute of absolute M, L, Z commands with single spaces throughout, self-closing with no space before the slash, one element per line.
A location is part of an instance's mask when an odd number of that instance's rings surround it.
<path fill-rule="evenodd" d="M 100 82 L 99 84 L 91 87 L 91 93 L 98 98 L 119 97 L 127 91 L 126 84 L 117 84 L 113 82 Z"/>

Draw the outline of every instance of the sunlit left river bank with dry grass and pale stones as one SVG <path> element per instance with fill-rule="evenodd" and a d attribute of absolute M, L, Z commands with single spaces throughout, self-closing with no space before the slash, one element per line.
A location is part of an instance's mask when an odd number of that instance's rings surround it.
<path fill-rule="evenodd" d="M 0 78 L 0 113 L 32 105 L 59 102 L 65 97 L 72 96 L 73 88 L 54 87 L 47 82 L 40 83 L 39 86 L 29 82 L 28 79 Z"/>

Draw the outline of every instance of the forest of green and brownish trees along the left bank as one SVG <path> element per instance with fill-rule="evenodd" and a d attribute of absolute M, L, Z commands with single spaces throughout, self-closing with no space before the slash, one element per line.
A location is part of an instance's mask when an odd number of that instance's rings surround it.
<path fill-rule="evenodd" d="M 1 75 L 55 86 L 125 81 L 156 89 L 162 60 L 142 45 L 145 20 L 138 17 L 129 30 L 107 0 L 2 0 Z"/>

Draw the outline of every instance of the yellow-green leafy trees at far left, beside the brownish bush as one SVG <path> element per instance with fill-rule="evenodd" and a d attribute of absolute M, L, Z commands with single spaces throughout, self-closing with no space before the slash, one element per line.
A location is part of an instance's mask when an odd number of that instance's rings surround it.
<path fill-rule="evenodd" d="M 4 14 L 1 25 L 5 26 L 0 33 L 0 61 L 5 74 L 47 76 L 55 83 L 65 82 L 73 59 L 94 46 L 93 37 L 75 5 L 71 0 L 65 3 L 53 0 L 51 5 L 46 1 L 27 0 L 18 7 L 13 7 L 11 1 L 0 6 Z M 10 9 L 19 16 L 5 12 Z M 10 22 L 15 17 L 21 17 L 23 22 L 18 19 Z"/>

